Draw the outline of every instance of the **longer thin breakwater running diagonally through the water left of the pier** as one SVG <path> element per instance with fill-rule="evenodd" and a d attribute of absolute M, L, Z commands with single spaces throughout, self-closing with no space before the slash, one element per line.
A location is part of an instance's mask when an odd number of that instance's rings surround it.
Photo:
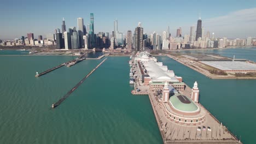
<path fill-rule="evenodd" d="M 92 73 L 94 73 L 94 71 L 100 67 L 100 65 L 106 61 L 107 58 L 105 58 L 100 64 L 97 65 L 97 67 L 95 67 L 89 74 L 87 74 L 80 82 L 77 83 L 77 85 L 75 85 L 70 91 L 68 91 L 67 94 L 65 94 L 59 101 L 57 101 L 56 103 L 54 103 L 53 105 L 51 105 L 51 108 L 55 108 L 57 106 L 59 106 L 66 98 L 69 97 L 69 95 L 71 93 L 73 93 L 75 91 L 75 89 L 77 89 Z"/>

